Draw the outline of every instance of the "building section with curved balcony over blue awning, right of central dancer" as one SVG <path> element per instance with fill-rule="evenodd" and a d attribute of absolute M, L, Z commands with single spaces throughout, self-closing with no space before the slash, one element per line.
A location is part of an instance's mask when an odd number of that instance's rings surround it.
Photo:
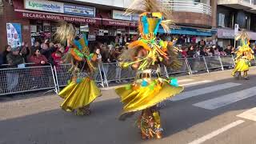
<path fill-rule="evenodd" d="M 216 8 L 214 0 L 162 0 L 162 6 L 173 10 L 175 23 L 170 34 L 182 39 L 180 44 L 197 43 L 201 39 L 215 44 Z"/>

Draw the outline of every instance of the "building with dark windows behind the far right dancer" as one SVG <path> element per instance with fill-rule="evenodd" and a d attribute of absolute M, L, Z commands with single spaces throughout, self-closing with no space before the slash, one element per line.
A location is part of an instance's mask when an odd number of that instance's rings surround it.
<path fill-rule="evenodd" d="M 234 26 L 245 29 L 250 35 L 250 43 L 256 41 L 256 2 L 254 0 L 218 0 L 217 26 L 218 45 L 234 46 Z"/>

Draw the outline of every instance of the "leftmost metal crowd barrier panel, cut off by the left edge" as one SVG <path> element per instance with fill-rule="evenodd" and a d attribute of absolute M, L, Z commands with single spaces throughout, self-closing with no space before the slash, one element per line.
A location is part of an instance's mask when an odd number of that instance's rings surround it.
<path fill-rule="evenodd" d="M 46 89 L 57 91 L 52 66 L 0 69 L 0 95 Z"/>

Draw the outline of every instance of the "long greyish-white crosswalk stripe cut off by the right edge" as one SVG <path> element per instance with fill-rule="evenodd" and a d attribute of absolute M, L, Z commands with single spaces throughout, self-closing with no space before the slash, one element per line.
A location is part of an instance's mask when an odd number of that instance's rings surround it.
<path fill-rule="evenodd" d="M 251 87 L 250 89 L 240 90 L 235 93 L 226 94 L 226 95 L 223 95 L 222 97 L 218 97 L 218 95 L 216 95 L 216 97 L 218 98 L 212 98 L 203 102 L 198 102 L 198 103 L 195 103 L 193 106 L 202 107 L 207 110 L 214 110 L 219 107 L 226 106 L 234 102 L 238 102 L 242 99 L 253 97 L 255 95 L 256 95 L 256 86 Z"/>

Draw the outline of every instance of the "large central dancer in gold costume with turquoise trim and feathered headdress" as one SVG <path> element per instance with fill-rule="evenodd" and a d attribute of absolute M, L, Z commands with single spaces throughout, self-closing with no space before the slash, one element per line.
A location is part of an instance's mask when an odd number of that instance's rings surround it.
<path fill-rule="evenodd" d="M 138 4 L 138 2 L 141 2 Z M 164 11 L 157 0 L 135 1 L 126 13 L 131 13 L 133 6 L 145 6 L 145 12 L 139 15 L 138 30 L 140 38 L 131 42 L 128 50 L 119 57 L 119 66 L 131 67 L 137 71 L 135 81 L 115 91 L 123 103 L 120 120 L 136 111 L 142 111 L 137 124 L 142 139 L 162 138 L 162 126 L 157 104 L 182 92 L 175 78 L 162 78 L 159 66 L 172 69 L 180 67 L 177 51 L 172 42 L 156 38 L 158 27 L 169 30 L 170 12 Z M 167 20 L 165 20 L 166 18 Z"/>

